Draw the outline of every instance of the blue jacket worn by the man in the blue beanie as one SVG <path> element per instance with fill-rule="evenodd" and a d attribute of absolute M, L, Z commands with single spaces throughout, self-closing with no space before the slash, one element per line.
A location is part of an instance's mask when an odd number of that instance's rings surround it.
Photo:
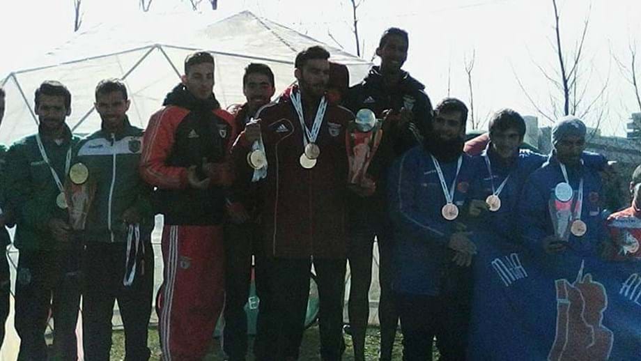
<path fill-rule="evenodd" d="M 567 167 L 567 173 L 575 197 L 578 195 L 580 178 L 583 178 L 582 204 L 576 207 L 581 207 L 581 220 L 587 225 L 587 232 L 582 237 L 570 233 L 569 247 L 578 254 L 594 256 L 598 241 L 603 240 L 606 234 L 600 217 L 601 177 L 584 164 Z M 518 207 L 520 233 L 525 245 L 542 252 L 541 240 L 555 234 L 550 213 L 573 202 L 571 200 L 564 205 L 555 197 L 556 185 L 564 181 L 555 153 L 528 178 Z"/>

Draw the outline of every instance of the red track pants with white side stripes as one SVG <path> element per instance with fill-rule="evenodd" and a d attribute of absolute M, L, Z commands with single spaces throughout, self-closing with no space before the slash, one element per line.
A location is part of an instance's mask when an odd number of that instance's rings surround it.
<path fill-rule="evenodd" d="M 157 298 L 164 361 L 201 360 L 213 339 L 224 302 L 222 233 L 222 226 L 164 226 Z"/>

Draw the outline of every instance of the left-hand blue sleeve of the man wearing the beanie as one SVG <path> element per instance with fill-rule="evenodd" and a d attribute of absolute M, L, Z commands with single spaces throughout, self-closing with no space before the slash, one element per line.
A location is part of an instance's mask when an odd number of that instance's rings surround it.
<path fill-rule="evenodd" d="M 523 244 L 539 249 L 541 240 L 548 236 L 548 194 L 541 180 L 530 177 L 525 182 L 518 203 L 518 226 Z"/>

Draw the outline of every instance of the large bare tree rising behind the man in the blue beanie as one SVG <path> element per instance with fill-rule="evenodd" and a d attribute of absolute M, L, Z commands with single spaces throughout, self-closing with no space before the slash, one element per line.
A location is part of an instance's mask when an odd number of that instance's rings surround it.
<path fill-rule="evenodd" d="M 608 78 L 603 82 L 596 94 L 592 98 L 587 96 L 587 92 L 592 90 L 590 80 L 592 78 L 593 67 L 585 66 L 584 45 L 589 29 L 589 12 L 585 18 L 580 37 L 575 41 L 573 52 L 568 51 L 562 43 L 561 31 L 561 16 L 559 15 L 559 8 L 557 7 L 557 0 L 552 0 L 554 9 L 554 35 L 553 49 L 555 57 L 557 58 L 557 68 L 546 69 L 538 63 L 534 63 L 539 72 L 545 77 L 548 82 L 557 89 L 559 93 L 549 94 L 550 109 L 546 111 L 538 102 L 532 98 L 530 93 L 525 89 L 523 82 L 520 81 L 518 75 L 516 81 L 525 96 L 530 101 L 532 106 L 539 112 L 541 116 L 547 118 L 549 121 L 554 122 L 559 116 L 566 116 L 574 114 L 579 118 L 584 118 L 587 114 L 594 110 L 598 102 L 604 101 L 605 90 L 608 87 Z M 569 60 L 568 60 L 569 59 Z M 583 68 L 589 68 L 589 71 L 582 72 Z M 596 127 L 601 123 L 601 119 L 605 116 L 604 112 L 592 112 L 595 114 Z"/>

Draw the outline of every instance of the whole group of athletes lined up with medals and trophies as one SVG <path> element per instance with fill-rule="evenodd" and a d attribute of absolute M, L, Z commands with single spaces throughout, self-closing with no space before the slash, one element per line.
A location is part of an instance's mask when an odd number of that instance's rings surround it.
<path fill-rule="evenodd" d="M 260 299 L 256 360 L 298 360 L 312 265 L 321 359 L 340 360 L 347 264 L 346 330 L 355 360 L 364 360 L 375 239 L 380 360 L 392 358 L 399 318 L 404 360 L 431 359 L 434 338 L 441 360 L 465 360 L 479 233 L 549 254 L 601 252 L 598 243 L 608 237 L 599 172 L 608 162 L 584 152 L 582 121 L 555 123 L 549 156 L 520 150 L 525 122 L 511 109 L 491 118 L 488 135 L 465 144 L 468 108 L 446 98 L 433 109 L 423 84 L 401 70 L 408 45 L 406 31 L 385 31 L 380 66 L 352 87 L 347 68 L 330 62 L 323 47 L 304 49 L 295 58 L 297 82 L 275 99 L 272 70 L 251 63 L 242 79 L 247 102 L 229 112 L 213 94 L 213 56 L 196 52 L 146 130 L 128 121 L 125 84 L 102 80 L 95 88 L 101 128 L 83 138 L 65 123 L 68 89 L 40 84 L 38 132 L 0 152 L 1 236 L 9 245 L 4 226 L 15 224 L 20 250 L 18 360 L 76 360 L 81 295 L 86 360 L 109 360 L 114 301 L 125 359 L 148 360 L 150 235 L 158 213 L 163 360 L 201 360 L 221 313 L 226 357 L 245 360 L 252 272 Z M 0 120 L 4 98 L 1 91 Z M 360 109 L 376 114 L 383 136 L 366 181 L 348 184 Z M 631 183 L 631 208 L 611 217 L 638 217 L 639 188 Z M 565 233 L 550 202 L 569 204 Z M 613 255 L 616 247 L 608 247 Z M 10 293 L 4 257 L 0 270 L 3 321 Z"/>

